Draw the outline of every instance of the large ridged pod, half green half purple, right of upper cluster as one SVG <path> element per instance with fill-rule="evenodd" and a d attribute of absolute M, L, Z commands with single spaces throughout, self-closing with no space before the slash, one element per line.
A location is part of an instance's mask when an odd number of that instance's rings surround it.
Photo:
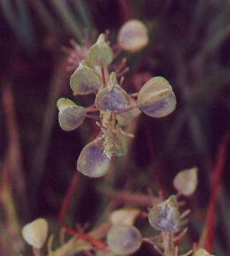
<path fill-rule="evenodd" d="M 171 85 L 163 77 L 151 78 L 138 93 L 138 109 L 148 116 L 167 116 L 175 108 L 176 96 Z"/>

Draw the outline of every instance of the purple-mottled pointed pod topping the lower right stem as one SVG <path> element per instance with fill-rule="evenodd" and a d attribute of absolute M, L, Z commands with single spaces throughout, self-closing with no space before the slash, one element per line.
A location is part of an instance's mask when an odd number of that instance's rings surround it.
<path fill-rule="evenodd" d="M 176 196 L 153 206 L 148 214 L 150 225 L 160 231 L 178 232 L 181 221 L 177 208 Z"/>

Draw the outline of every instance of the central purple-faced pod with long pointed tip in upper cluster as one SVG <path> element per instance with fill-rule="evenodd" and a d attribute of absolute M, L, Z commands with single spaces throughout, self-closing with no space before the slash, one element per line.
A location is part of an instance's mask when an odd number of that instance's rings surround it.
<path fill-rule="evenodd" d="M 110 111 L 124 111 L 130 106 L 130 97 L 119 86 L 115 72 L 111 73 L 107 86 L 97 93 L 95 106 Z"/>

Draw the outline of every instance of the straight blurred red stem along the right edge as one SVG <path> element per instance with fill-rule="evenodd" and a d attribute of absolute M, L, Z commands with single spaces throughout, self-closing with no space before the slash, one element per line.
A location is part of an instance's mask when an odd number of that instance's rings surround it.
<path fill-rule="evenodd" d="M 216 165 L 214 167 L 211 199 L 209 203 L 209 208 L 207 211 L 206 219 L 206 239 L 205 239 L 205 248 L 209 252 L 213 251 L 214 247 L 214 221 L 215 221 L 215 209 L 216 201 L 218 198 L 219 189 L 221 188 L 221 179 L 224 171 L 224 163 L 226 159 L 226 149 L 228 142 L 230 140 L 230 131 L 227 132 L 221 140 L 221 143 L 217 150 L 217 159 Z"/>

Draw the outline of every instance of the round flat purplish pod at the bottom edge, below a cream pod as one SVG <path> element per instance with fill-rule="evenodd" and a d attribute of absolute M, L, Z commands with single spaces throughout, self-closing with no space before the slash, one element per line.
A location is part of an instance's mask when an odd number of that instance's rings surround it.
<path fill-rule="evenodd" d="M 130 225 L 114 225 L 107 232 L 107 244 L 115 255 L 130 255 L 136 252 L 142 239 L 140 231 Z"/>

